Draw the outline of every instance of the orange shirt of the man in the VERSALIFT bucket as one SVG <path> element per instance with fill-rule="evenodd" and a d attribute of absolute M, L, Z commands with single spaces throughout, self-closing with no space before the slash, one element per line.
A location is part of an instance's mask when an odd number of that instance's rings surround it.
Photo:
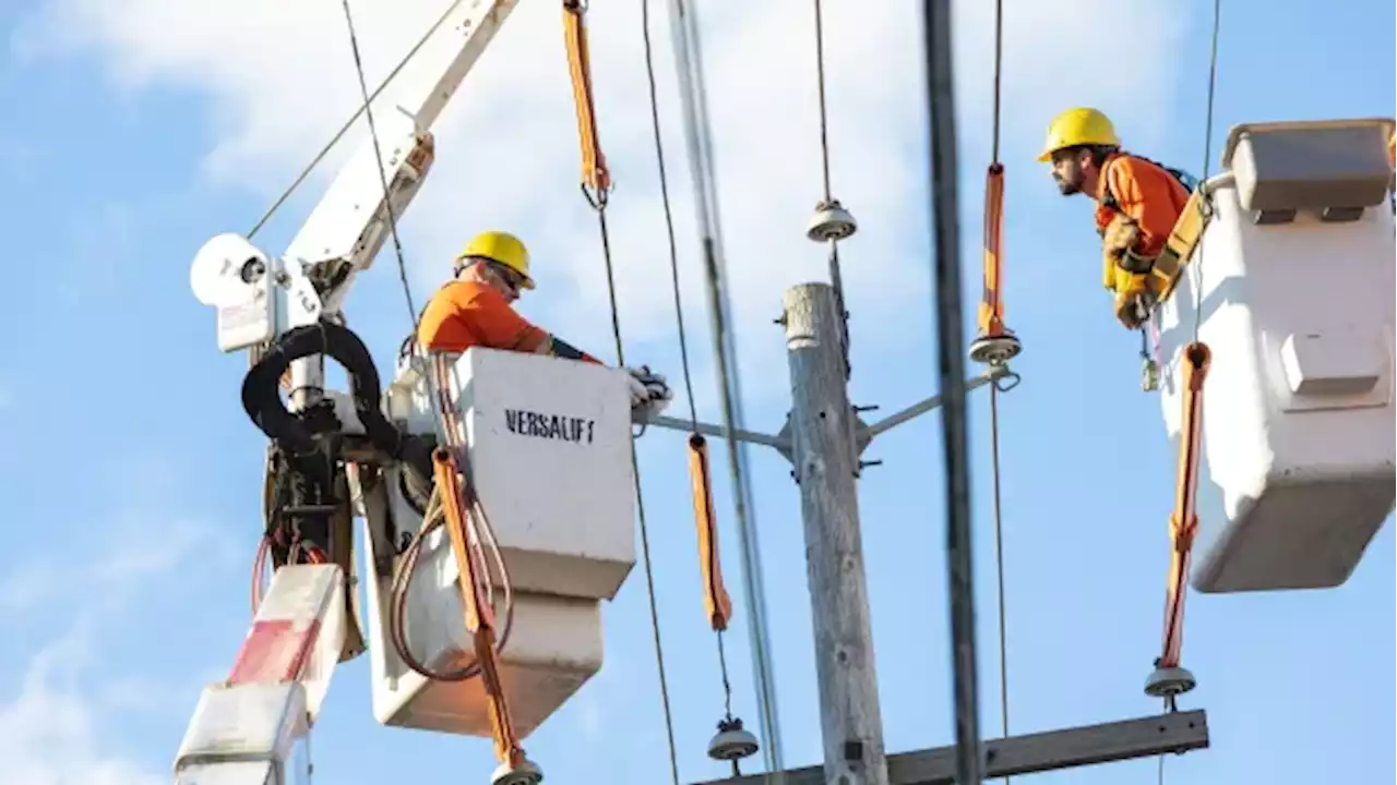
<path fill-rule="evenodd" d="M 464 352 L 471 346 L 532 352 L 549 339 L 488 284 L 451 281 L 437 289 L 418 321 L 418 345 L 426 351 Z"/>

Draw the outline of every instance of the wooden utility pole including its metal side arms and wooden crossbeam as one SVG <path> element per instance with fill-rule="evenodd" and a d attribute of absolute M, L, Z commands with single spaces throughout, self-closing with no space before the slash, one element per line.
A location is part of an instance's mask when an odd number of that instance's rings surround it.
<path fill-rule="evenodd" d="M 943 394 L 968 394 L 1016 374 L 992 366 L 967 379 L 961 390 L 943 390 L 865 423 L 848 399 L 841 316 L 828 284 L 787 291 L 781 323 L 791 366 L 791 419 L 778 433 L 732 432 L 739 441 L 770 447 L 789 460 L 800 483 L 824 763 L 705 785 L 957 785 L 964 750 L 971 746 L 978 747 L 971 753 L 972 768 L 986 778 L 1207 749 L 1207 715 L 1189 711 L 887 754 L 859 535 L 856 480 L 865 465 L 859 455 L 877 436 L 937 409 Z M 689 419 L 654 416 L 650 425 L 728 436 L 722 426 Z M 978 733 L 971 736 L 978 739 Z"/>

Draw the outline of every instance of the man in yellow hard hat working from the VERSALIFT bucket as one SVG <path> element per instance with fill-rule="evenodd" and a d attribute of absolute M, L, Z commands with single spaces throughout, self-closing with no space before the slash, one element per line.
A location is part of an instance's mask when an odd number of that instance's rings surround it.
<path fill-rule="evenodd" d="M 437 289 L 422 311 L 418 346 L 444 353 L 485 346 L 602 365 L 515 313 L 511 303 L 532 288 L 528 249 L 518 237 L 507 232 L 476 235 L 455 257 L 454 279 Z M 658 413 L 673 398 L 664 376 L 645 367 L 626 370 L 633 408 Z"/>

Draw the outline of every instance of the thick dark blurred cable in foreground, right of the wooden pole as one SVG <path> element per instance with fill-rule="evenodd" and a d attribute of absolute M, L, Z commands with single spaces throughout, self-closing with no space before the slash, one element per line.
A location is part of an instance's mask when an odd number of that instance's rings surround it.
<path fill-rule="evenodd" d="M 930 115 L 930 182 L 935 230 L 937 370 L 946 464 L 946 566 L 950 596 L 956 707 L 956 781 L 983 781 L 975 662 L 975 582 L 971 555 L 970 446 L 967 443 L 965 358 L 960 226 L 957 221 L 956 95 L 950 0 L 925 0 L 922 45 Z"/>

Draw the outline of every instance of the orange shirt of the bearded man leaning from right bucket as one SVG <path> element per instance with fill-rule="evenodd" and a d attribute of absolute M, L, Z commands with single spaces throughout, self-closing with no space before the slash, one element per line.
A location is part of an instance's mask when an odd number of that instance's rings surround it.
<path fill-rule="evenodd" d="M 1105 232 L 1116 215 L 1123 212 L 1140 226 L 1140 242 L 1134 251 L 1143 257 L 1160 256 L 1173 232 L 1173 223 L 1183 214 L 1189 190 L 1162 166 L 1127 152 L 1108 158 L 1102 165 L 1102 175 L 1097 186 L 1097 201 L 1102 201 L 1109 193 L 1116 200 L 1116 210 L 1105 204 L 1097 207 L 1097 232 Z"/>

